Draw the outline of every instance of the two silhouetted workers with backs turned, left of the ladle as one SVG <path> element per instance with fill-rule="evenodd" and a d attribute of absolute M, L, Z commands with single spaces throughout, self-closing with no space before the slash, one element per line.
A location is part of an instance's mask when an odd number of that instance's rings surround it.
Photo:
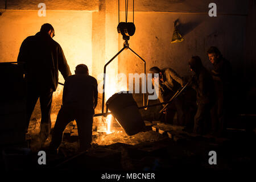
<path fill-rule="evenodd" d="M 97 80 L 89 76 L 85 64 L 76 66 L 71 75 L 69 65 L 60 45 L 53 40 L 54 28 L 45 23 L 34 36 L 28 36 L 20 46 L 18 64 L 24 64 L 27 81 L 27 125 L 38 98 L 41 108 L 40 140 L 46 142 L 51 131 L 52 94 L 58 85 L 59 71 L 65 79 L 63 105 L 57 115 L 49 151 L 57 153 L 63 131 L 69 122 L 76 120 L 80 148 L 86 150 L 92 142 L 92 123 L 97 106 Z"/>

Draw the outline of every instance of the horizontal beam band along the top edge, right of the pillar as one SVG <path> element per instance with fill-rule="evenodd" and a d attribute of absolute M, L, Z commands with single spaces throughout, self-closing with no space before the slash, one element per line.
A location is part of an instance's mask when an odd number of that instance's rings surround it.
<path fill-rule="evenodd" d="M 241 0 L 141 0 L 134 1 L 134 10 L 141 12 L 208 13 L 209 3 L 216 3 L 219 14 L 246 14 L 247 1 Z M 125 11 L 125 1 L 120 0 L 120 10 Z M 133 10 L 129 1 L 128 10 Z"/>

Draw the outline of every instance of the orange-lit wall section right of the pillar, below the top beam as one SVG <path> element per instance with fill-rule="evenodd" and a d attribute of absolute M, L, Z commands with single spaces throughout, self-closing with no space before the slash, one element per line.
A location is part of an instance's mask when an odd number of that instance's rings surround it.
<path fill-rule="evenodd" d="M 235 71 L 243 64 L 246 16 L 222 15 L 210 18 L 200 14 L 135 13 L 136 32 L 130 37 L 130 47 L 146 60 L 146 69 L 153 66 L 171 67 L 181 76 L 189 75 L 188 60 L 201 57 L 210 68 L 206 54 L 210 46 L 217 46 L 231 61 Z M 171 44 L 174 20 L 184 41 Z M 119 48 L 124 40 L 119 36 Z M 119 72 L 143 72 L 142 62 L 130 51 L 119 58 Z M 123 66 L 126 65 L 126 66 Z M 238 70 L 236 70 L 238 69 Z"/>

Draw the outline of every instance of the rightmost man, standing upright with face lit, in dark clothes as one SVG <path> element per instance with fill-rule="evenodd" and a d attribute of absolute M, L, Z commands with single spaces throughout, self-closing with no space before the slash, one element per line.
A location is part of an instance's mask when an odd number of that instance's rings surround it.
<path fill-rule="evenodd" d="M 232 67 L 229 61 L 222 57 L 217 47 L 210 47 L 207 53 L 210 63 L 213 64 L 212 76 L 218 97 L 212 110 L 212 115 L 217 115 L 217 118 L 213 119 L 212 122 L 213 134 L 222 135 L 225 134 L 226 114 L 230 102 Z"/>

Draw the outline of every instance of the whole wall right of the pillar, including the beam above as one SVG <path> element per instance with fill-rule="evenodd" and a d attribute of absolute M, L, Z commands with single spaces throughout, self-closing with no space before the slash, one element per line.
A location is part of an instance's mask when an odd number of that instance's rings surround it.
<path fill-rule="evenodd" d="M 245 64 L 247 1 L 218 1 L 217 17 L 208 15 L 207 1 L 201 2 L 179 1 L 172 2 L 174 6 L 167 3 L 165 7 L 159 3 L 160 5 L 152 6 L 151 9 L 145 9 L 146 5 L 141 4 L 141 9 L 135 9 L 136 31 L 130 37 L 130 47 L 146 60 L 147 72 L 153 66 L 170 67 L 180 76 L 186 77 L 191 75 L 188 68 L 191 56 L 200 56 L 205 67 L 212 69 L 206 52 L 210 46 L 217 46 L 232 64 L 235 84 L 233 95 L 236 100 L 241 96 L 236 81 L 242 82 Z M 191 3 L 200 6 L 193 6 Z M 121 17 L 121 21 L 125 21 L 124 12 Z M 128 22 L 132 22 L 132 18 L 133 13 L 129 12 Z M 178 30 L 184 41 L 171 44 L 174 21 L 177 19 Z M 119 36 L 119 49 L 123 47 L 123 42 L 122 36 Z M 119 57 L 118 68 L 120 73 L 126 75 L 143 72 L 141 60 L 130 51 Z"/>

